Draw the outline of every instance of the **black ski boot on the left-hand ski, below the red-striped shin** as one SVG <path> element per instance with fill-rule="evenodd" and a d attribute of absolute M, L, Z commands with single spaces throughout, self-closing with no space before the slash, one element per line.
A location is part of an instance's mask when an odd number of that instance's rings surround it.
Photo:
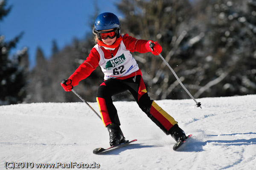
<path fill-rule="evenodd" d="M 109 144 L 111 147 L 125 142 L 125 137 L 118 124 L 109 124 L 107 127 L 109 132 Z"/>

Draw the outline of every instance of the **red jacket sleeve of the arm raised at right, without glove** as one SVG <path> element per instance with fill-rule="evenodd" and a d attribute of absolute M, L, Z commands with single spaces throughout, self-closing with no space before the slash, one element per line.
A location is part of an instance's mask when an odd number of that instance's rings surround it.
<path fill-rule="evenodd" d="M 131 37 L 128 34 L 123 35 L 122 40 L 126 46 L 126 49 L 130 52 L 149 52 L 148 49 L 145 47 L 148 40 L 137 40 L 136 38 Z"/>

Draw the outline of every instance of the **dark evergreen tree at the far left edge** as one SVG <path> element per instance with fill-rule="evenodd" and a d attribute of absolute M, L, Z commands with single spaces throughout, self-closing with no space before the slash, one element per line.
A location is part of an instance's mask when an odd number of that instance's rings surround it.
<path fill-rule="evenodd" d="M 6 8 L 6 1 L 0 1 L 0 21 L 3 20 L 11 10 Z M 25 68 L 21 66 L 23 58 L 27 58 L 27 49 L 24 48 L 14 56 L 9 56 L 12 48 L 15 48 L 23 33 L 9 42 L 5 41 L 4 35 L 0 34 L 0 105 L 17 104 L 23 102 L 26 97 L 26 73 Z"/>

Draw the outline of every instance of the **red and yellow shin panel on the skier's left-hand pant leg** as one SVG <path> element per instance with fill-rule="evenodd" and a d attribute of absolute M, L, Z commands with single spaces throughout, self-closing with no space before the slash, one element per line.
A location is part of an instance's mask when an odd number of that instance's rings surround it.
<path fill-rule="evenodd" d="M 99 111 L 100 111 L 100 114 L 102 117 L 102 122 L 106 127 L 106 126 L 108 126 L 108 124 L 111 124 L 112 122 L 111 122 L 111 119 L 108 114 L 108 109 L 106 107 L 105 99 L 97 97 L 96 100 L 99 104 Z"/>

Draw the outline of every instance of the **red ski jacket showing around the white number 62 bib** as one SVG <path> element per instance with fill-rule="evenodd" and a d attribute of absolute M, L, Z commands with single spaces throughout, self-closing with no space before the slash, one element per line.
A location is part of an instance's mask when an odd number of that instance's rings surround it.
<path fill-rule="evenodd" d="M 148 42 L 147 40 L 137 40 L 134 37 L 128 36 L 128 34 L 123 35 L 122 41 L 125 44 L 125 47 L 130 52 L 140 52 L 145 53 L 149 52 L 148 49 L 145 47 L 145 44 Z M 114 50 L 107 50 L 104 47 L 101 47 L 102 51 L 104 52 L 105 58 L 111 58 L 112 56 L 116 55 L 117 50 L 119 49 L 119 46 L 116 47 Z M 100 55 L 99 52 L 93 48 L 90 51 L 90 54 L 77 69 L 76 71 L 69 77 L 72 80 L 72 86 L 76 86 L 79 84 L 79 81 L 87 78 L 93 70 L 96 69 L 96 67 L 99 65 Z M 125 79 L 133 77 L 134 75 L 141 75 L 140 69 L 137 72 L 134 72 L 130 75 L 116 78 L 116 79 Z"/>

